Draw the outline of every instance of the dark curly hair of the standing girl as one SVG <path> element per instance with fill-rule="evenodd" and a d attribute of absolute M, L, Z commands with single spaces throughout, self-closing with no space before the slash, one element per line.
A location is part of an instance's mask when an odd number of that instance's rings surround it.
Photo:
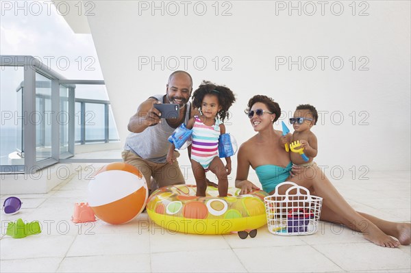
<path fill-rule="evenodd" d="M 228 118 L 228 109 L 234 101 L 236 101 L 232 90 L 225 86 L 216 86 L 211 81 L 203 81 L 199 88 L 192 93 L 192 106 L 201 108 L 201 103 L 203 103 L 203 99 L 206 94 L 212 94 L 219 98 L 221 110 L 217 113 L 217 116 L 221 119 L 221 121 Z"/>

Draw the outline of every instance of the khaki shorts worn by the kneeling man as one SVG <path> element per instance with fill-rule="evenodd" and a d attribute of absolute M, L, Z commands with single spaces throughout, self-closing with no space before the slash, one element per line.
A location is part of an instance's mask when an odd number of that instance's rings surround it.
<path fill-rule="evenodd" d="M 177 151 L 174 152 L 175 157 L 179 157 Z M 139 155 L 136 155 L 132 151 L 123 151 L 121 157 L 127 164 L 131 164 L 138 168 L 144 176 L 149 190 L 156 190 L 158 187 L 164 187 L 168 185 L 184 184 L 184 176 L 182 170 L 179 168 L 179 164 L 176 161 L 173 164 L 169 163 L 155 163 L 149 160 L 142 159 Z M 156 184 L 153 185 L 151 177 L 155 180 Z"/>

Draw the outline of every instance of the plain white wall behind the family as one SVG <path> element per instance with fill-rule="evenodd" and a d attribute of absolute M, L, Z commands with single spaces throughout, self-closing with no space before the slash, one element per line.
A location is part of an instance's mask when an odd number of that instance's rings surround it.
<path fill-rule="evenodd" d="M 288 1 L 219 2 L 218 16 L 214 1 L 188 2 L 187 15 L 180 1 L 173 2 L 179 7 L 175 16 L 176 5 L 162 1 L 155 2 L 163 5 L 159 10 L 151 10 L 151 1 L 95 3 L 88 22 L 123 141 L 129 116 L 148 96 L 165 92 L 177 58 L 177 68 L 188 70 L 195 87 L 208 79 L 237 94 L 227 127 L 239 143 L 254 133 L 243 114 L 248 99 L 267 94 L 281 105 L 285 118 L 301 103 L 324 113 L 313 129 L 319 139 L 319 165 L 341 166 L 346 173 L 351 166 L 357 171 L 361 166 L 410 170 L 409 1 L 357 1 L 355 16 L 351 1 L 324 2 L 324 15 L 317 1 L 292 1 L 301 5 L 301 16 L 288 10 Z M 201 3 L 207 7 L 203 16 L 197 15 Z M 309 16 L 312 4 L 316 13 Z M 284 5 L 286 10 L 281 10 Z M 336 16 L 340 5 L 343 13 Z M 232 15 L 221 16 L 227 8 Z M 160 61 L 153 68 L 140 62 L 152 56 Z M 161 62 L 162 56 L 169 62 Z M 191 58 L 187 67 L 182 56 Z M 282 56 L 293 61 L 301 56 L 306 62 L 301 61 L 301 70 L 297 64 L 288 69 L 276 62 Z M 327 58 L 323 69 L 319 56 Z M 193 64 L 195 57 L 207 61 L 203 70 L 200 59 Z M 312 59 L 316 68 L 309 70 Z M 340 70 L 338 60 L 344 62 Z M 231 70 L 223 70 L 224 64 Z M 362 64 L 369 70 L 360 70 Z M 275 127 L 281 128 L 279 123 Z M 183 157 L 181 164 L 189 165 L 185 153 Z"/>

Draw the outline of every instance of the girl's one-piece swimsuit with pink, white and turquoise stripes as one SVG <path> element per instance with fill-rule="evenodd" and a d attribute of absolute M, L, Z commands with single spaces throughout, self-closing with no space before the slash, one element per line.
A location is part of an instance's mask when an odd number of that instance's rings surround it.
<path fill-rule="evenodd" d="M 206 172 L 214 157 L 219 156 L 220 120 L 212 126 L 205 125 L 195 116 L 192 127 L 191 159 L 199 162 Z"/>

